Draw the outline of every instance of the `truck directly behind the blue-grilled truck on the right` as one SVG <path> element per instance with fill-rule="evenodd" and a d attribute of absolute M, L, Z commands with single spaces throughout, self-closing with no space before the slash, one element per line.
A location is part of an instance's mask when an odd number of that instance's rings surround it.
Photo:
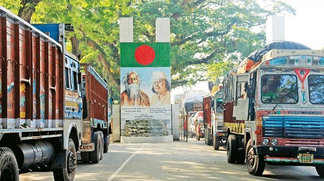
<path fill-rule="evenodd" d="M 205 143 L 213 145 L 214 150 L 226 145 L 227 135 L 223 131 L 223 90 L 218 84 L 217 91 L 211 96 L 204 97 L 204 127 Z"/>

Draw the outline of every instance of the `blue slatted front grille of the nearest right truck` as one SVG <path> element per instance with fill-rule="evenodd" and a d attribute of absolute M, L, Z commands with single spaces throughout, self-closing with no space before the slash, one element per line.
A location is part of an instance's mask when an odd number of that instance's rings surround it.
<path fill-rule="evenodd" d="M 311 116 L 264 116 L 264 137 L 324 138 L 324 117 Z"/>

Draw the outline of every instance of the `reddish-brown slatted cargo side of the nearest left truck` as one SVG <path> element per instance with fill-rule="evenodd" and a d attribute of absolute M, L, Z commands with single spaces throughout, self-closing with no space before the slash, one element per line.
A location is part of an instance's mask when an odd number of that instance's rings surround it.
<path fill-rule="evenodd" d="M 0 128 L 62 128 L 62 46 L 1 10 Z"/>

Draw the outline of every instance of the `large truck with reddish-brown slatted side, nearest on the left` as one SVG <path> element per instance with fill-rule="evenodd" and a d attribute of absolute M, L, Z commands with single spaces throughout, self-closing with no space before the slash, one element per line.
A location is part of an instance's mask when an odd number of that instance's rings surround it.
<path fill-rule="evenodd" d="M 53 171 L 55 180 L 73 180 L 76 152 L 90 146 L 83 143 L 80 64 L 64 43 L 71 27 L 31 25 L 3 7 L 0 15 L 0 178 Z M 91 135 L 97 153 L 100 131 Z"/>

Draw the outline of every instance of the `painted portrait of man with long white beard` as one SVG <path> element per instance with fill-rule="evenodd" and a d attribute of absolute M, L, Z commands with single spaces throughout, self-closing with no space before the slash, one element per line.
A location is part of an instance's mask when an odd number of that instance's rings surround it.
<path fill-rule="evenodd" d="M 128 72 L 122 83 L 125 85 L 125 91 L 120 94 L 121 105 L 150 106 L 148 95 L 140 90 L 141 79 L 136 72 Z"/>

